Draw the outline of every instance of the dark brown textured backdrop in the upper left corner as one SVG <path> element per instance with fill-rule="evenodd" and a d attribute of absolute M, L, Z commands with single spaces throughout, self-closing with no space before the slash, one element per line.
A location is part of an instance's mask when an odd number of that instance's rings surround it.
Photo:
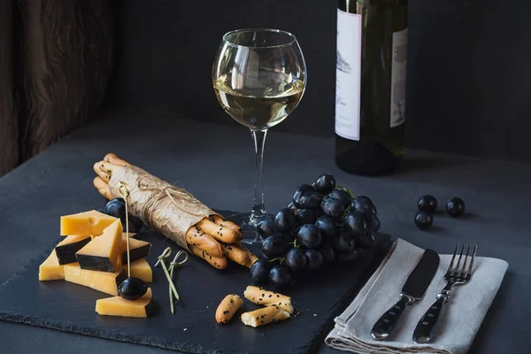
<path fill-rule="evenodd" d="M 112 22 L 109 0 L 0 0 L 0 175 L 99 109 Z"/>

